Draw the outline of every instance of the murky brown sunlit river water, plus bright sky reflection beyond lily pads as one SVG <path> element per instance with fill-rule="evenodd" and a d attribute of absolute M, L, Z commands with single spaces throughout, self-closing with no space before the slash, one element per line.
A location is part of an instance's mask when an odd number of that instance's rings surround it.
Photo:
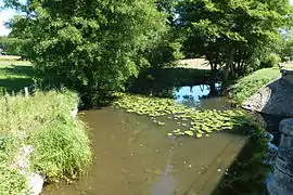
<path fill-rule="evenodd" d="M 204 86 L 173 90 L 177 102 L 201 109 L 229 107 L 221 98 L 203 99 Z M 176 122 L 104 107 L 79 115 L 89 127 L 93 161 L 73 184 L 47 185 L 44 195 L 209 195 L 229 174 L 247 136 L 218 132 L 211 138 L 170 139 Z M 164 119 L 162 119 L 164 120 Z"/>

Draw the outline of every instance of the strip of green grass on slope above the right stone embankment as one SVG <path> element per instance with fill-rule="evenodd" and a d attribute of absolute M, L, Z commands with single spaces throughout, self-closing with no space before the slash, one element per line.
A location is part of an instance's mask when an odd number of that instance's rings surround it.
<path fill-rule="evenodd" d="M 252 96 L 258 89 L 280 76 L 279 68 L 259 69 L 237 81 L 229 89 L 229 96 L 233 102 L 241 105 L 245 100 Z"/>

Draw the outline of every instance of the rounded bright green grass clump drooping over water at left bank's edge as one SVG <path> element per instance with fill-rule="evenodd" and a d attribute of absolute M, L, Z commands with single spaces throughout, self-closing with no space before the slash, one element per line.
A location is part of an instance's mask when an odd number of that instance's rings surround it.
<path fill-rule="evenodd" d="M 71 120 L 64 119 L 62 123 L 52 121 L 30 136 L 29 142 L 36 147 L 31 166 L 49 181 L 80 173 L 91 161 L 85 127 Z"/>

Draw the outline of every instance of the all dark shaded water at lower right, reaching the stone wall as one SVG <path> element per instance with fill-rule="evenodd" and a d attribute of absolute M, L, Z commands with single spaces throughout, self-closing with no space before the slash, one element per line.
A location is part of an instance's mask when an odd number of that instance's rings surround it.
<path fill-rule="evenodd" d="M 263 113 L 252 114 L 272 138 L 270 143 L 262 136 L 252 136 L 225 174 L 213 195 L 265 195 L 273 161 L 280 144 L 279 123 L 285 116 Z M 268 138 L 269 139 L 269 138 Z"/>

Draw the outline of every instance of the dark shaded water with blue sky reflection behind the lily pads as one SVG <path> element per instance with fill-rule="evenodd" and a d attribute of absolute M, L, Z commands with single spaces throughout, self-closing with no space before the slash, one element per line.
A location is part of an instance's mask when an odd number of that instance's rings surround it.
<path fill-rule="evenodd" d="M 227 109 L 231 105 L 219 96 L 220 78 L 211 79 L 211 70 L 194 68 L 148 69 L 128 83 L 132 93 L 174 99 L 188 107 Z"/>

